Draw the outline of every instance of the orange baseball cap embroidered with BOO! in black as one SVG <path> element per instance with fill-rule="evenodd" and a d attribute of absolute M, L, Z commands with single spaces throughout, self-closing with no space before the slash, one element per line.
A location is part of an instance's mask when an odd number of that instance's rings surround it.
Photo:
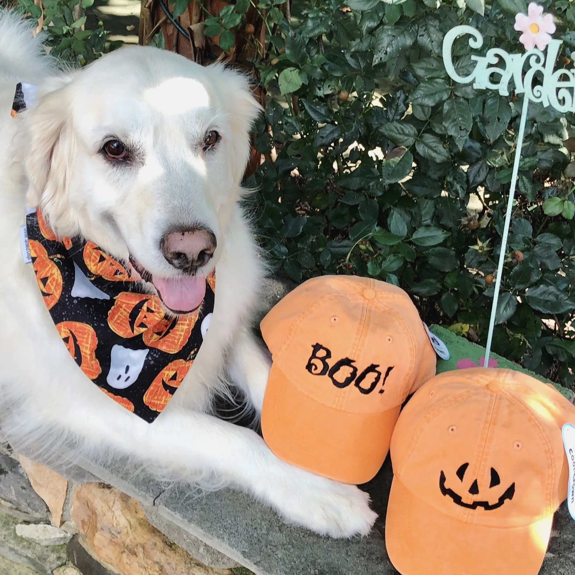
<path fill-rule="evenodd" d="M 337 481 L 371 480 L 401 404 L 435 375 L 435 351 L 407 293 L 369 278 L 313 278 L 261 329 L 273 355 L 262 411 L 271 451 Z"/>

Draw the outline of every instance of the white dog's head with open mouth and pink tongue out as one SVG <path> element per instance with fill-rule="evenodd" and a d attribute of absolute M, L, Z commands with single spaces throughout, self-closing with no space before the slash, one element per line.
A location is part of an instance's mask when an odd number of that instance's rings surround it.
<path fill-rule="evenodd" d="M 258 112 L 232 70 L 156 48 L 113 52 L 51 79 L 26 112 L 28 204 L 189 311 L 227 239 Z"/>

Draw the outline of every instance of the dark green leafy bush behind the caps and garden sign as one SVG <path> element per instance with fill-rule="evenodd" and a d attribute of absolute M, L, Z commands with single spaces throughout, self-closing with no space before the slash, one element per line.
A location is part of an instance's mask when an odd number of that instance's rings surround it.
<path fill-rule="evenodd" d="M 485 39 L 474 53 L 523 52 L 513 22 L 526 6 L 468 4 L 297 2 L 260 64 L 266 162 L 250 183 L 276 270 L 392 282 L 428 324 L 485 343 L 522 97 L 454 83 L 441 49 L 448 29 L 470 24 Z M 568 63 L 573 5 L 542 4 Z M 461 75 L 471 53 L 467 38 L 455 43 Z M 573 125 L 574 114 L 530 105 L 493 342 L 563 385 L 575 368 Z"/>

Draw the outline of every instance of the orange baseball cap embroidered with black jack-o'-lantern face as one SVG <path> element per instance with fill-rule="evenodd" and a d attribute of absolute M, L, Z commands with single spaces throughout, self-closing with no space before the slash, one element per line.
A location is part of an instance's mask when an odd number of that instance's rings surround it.
<path fill-rule="evenodd" d="M 402 575 L 536 575 L 566 499 L 575 407 L 505 369 L 436 375 L 401 413 L 385 543 Z"/>

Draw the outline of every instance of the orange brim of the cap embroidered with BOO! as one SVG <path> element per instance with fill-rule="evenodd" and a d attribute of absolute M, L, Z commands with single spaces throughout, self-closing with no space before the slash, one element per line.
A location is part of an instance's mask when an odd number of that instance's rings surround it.
<path fill-rule="evenodd" d="M 359 485 L 373 479 L 382 466 L 399 412 L 400 406 L 380 413 L 328 407 L 273 366 L 263 400 L 262 434 L 283 461 Z"/>

